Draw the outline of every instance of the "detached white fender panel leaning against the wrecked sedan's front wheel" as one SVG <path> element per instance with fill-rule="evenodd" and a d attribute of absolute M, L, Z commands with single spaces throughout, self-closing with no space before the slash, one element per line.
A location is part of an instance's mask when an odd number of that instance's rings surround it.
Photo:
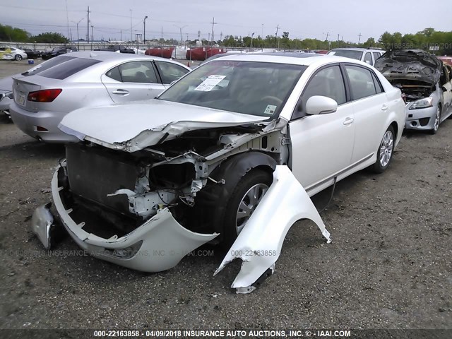
<path fill-rule="evenodd" d="M 273 272 L 285 235 L 301 219 L 314 221 L 327 242 L 331 242 L 330 233 L 302 184 L 295 179 L 289 167 L 278 165 L 273 172 L 273 184 L 214 275 L 225 268 L 227 263 L 241 258 L 242 268 L 232 288 L 237 289 L 238 293 L 252 292 L 256 288 L 253 286 L 256 280 L 268 269 Z"/>

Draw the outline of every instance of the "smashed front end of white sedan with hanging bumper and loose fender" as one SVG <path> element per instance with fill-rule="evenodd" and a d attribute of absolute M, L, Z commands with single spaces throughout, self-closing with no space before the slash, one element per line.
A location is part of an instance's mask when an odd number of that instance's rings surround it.
<path fill-rule="evenodd" d="M 145 143 L 143 134 L 137 138 Z M 139 149 L 126 149 L 137 145 L 133 139 L 105 145 L 86 137 L 83 143 L 66 145 L 66 160 L 52 179 L 54 206 L 71 237 L 91 255 L 158 272 L 176 266 L 202 244 L 221 242 L 218 215 L 234 213 L 226 210 L 227 197 L 242 177 L 264 168 L 273 174 L 273 184 L 215 272 L 242 258 L 233 287 L 251 292 L 273 271 L 294 222 L 314 220 L 330 239 L 287 166 L 288 140 L 285 121 L 189 129 Z M 278 213 L 269 206 L 278 206 Z M 45 230 L 39 237 L 49 248 L 45 234 L 52 221 L 42 208 L 37 215 L 41 218 L 33 224 Z M 256 256 L 239 255 L 247 250 Z"/>

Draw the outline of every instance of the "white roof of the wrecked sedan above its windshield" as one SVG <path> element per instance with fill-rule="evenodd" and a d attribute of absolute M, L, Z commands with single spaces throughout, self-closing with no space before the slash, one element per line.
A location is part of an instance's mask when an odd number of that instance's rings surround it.
<path fill-rule="evenodd" d="M 215 61 L 261 61 L 270 63 L 280 63 L 280 64 L 295 64 L 302 66 L 310 66 L 311 64 L 330 64 L 333 62 L 353 62 L 356 64 L 362 64 L 356 60 L 336 57 L 334 55 L 326 54 L 314 54 L 314 53 L 297 53 L 297 52 L 285 52 L 285 53 L 246 53 L 246 54 L 233 54 L 225 55 L 224 57 L 215 59 Z"/>

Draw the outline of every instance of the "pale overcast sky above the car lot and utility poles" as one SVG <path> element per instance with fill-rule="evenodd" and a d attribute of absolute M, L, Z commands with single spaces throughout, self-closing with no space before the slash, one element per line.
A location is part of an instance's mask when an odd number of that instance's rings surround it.
<path fill-rule="evenodd" d="M 0 23 L 32 35 L 59 32 L 86 38 L 87 10 L 95 40 L 164 37 L 180 40 L 225 35 L 275 35 L 349 42 L 378 40 L 383 32 L 452 31 L 452 1 L 425 0 L 14 0 L 1 1 Z M 214 20 L 215 18 L 215 20 Z M 91 33 L 91 32 L 90 32 Z"/>

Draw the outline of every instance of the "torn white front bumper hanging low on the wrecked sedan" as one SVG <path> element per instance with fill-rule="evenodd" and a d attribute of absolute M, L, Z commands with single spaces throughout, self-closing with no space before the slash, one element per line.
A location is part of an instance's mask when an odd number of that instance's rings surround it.
<path fill-rule="evenodd" d="M 69 235 L 92 256 L 120 266 L 144 272 L 160 272 L 173 268 L 194 249 L 218 236 L 191 232 L 175 220 L 168 208 L 145 221 L 143 225 L 123 237 L 114 235 L 109 239 L 83 230 L 85 222 L 76 223 L 65 208 L 58 186 L 59 171 L 64 171 L 65 162 L 58 167 L 52 179 L 52 198 L 55 208 Z M 62 173 L 61 173 L 62 174 Z M 43 242 L 44 244 L 44 242 Z"/>

